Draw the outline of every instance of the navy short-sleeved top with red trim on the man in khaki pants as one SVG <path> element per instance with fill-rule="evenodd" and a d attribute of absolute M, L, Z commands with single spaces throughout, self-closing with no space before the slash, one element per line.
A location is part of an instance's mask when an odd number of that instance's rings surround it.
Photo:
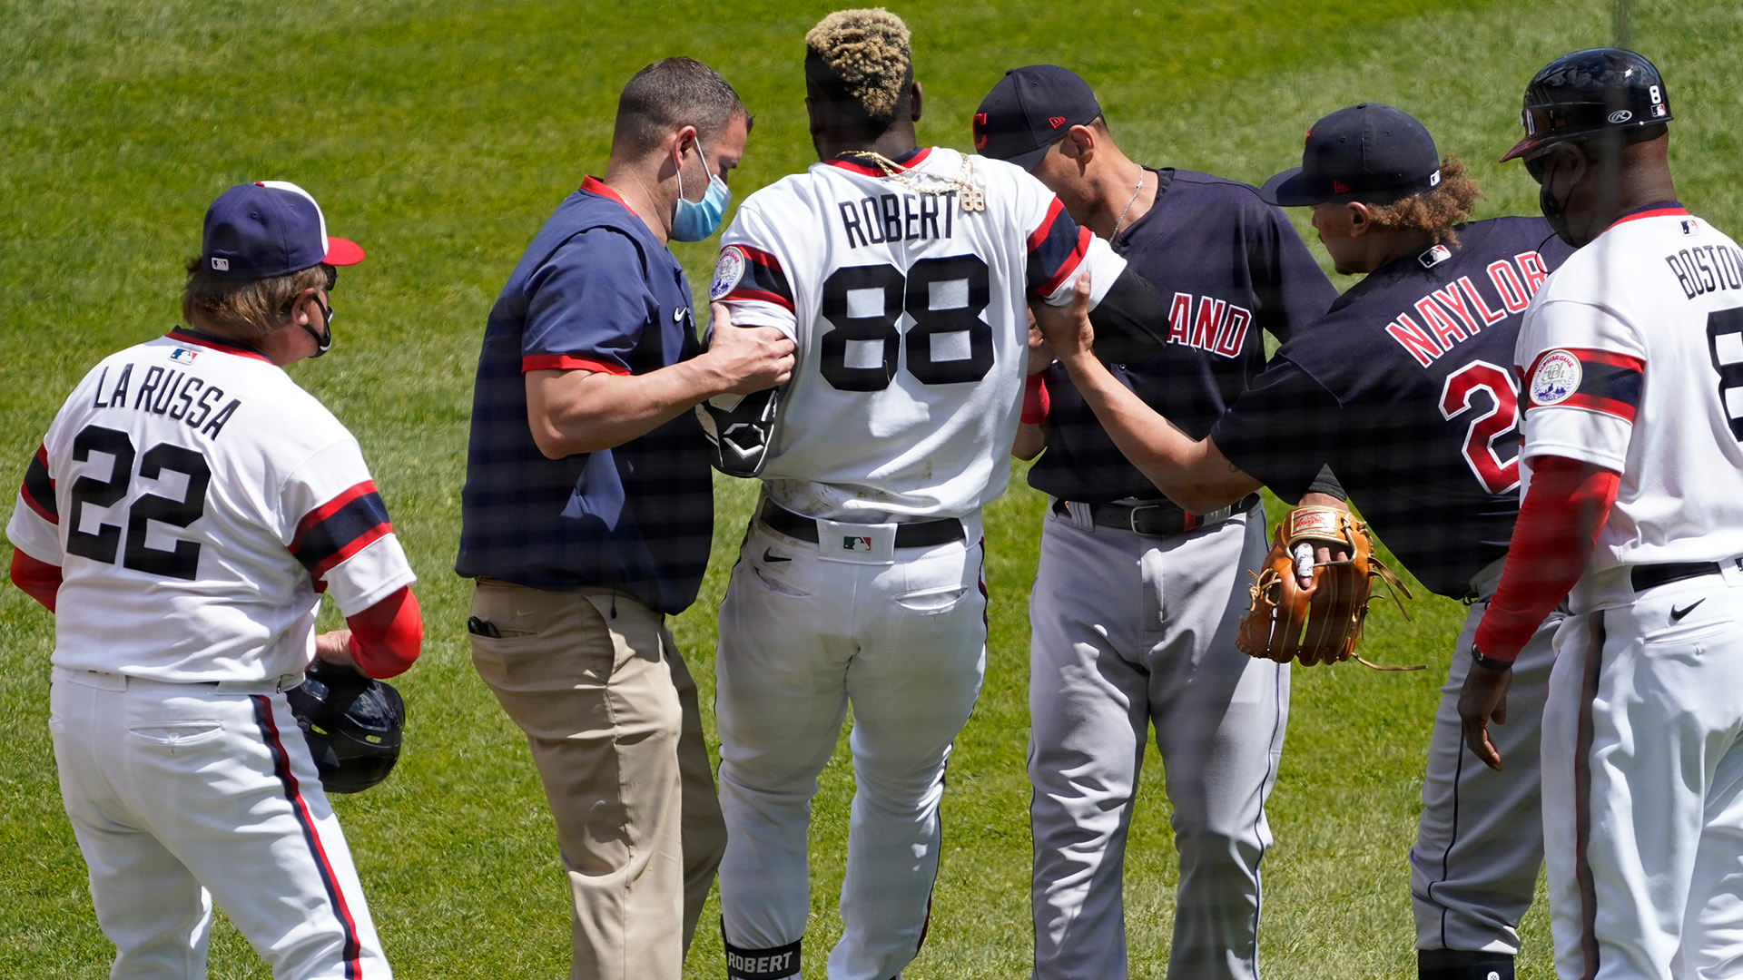
<path fill-rule="evenodd" d="M 657 612 L 708 567 L 708 445 L 688 412 L 612 450 L 551 460 L 526 422 L 525 373 L 640 375 L 701 350 L 683 269 L 603 183 L 551 214 L 490 310 L 460 497 L 460 575 L 539 589 L 619 588 Z"/>

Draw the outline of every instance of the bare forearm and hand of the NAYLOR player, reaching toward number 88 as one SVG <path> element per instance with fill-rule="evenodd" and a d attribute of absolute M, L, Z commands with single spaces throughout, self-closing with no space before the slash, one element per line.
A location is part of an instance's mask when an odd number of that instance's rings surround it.
<path fill-rule="evenodd" d="M 1194 439 L 1119 384 L 1091 354 L 1061 361 L 1119 452 L 1189 513 L 1225 507 L 1258 488 L 1210 439 Z"/>

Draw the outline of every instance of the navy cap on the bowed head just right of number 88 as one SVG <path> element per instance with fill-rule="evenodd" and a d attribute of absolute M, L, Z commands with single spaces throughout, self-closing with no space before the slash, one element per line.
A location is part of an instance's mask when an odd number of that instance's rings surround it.
<path fill-rule="evenodd" d="M 974 152 L 1030 171 L 1067 129 L 1100 115 L 1102 103 L 1075 71 L 1058 65 L 1013 68 L 974 112 Z"/>

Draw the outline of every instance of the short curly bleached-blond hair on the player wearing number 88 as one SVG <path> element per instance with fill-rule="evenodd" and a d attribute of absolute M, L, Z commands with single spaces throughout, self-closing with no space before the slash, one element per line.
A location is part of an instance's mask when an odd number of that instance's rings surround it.
<path fill-rule="evenodd" d="M 805 58 L 828 70 L 845 101 L 887 124 L 913 78 L 908 38 L 908 24 L 884 7 L 837 10 L 805 35 Z"/>

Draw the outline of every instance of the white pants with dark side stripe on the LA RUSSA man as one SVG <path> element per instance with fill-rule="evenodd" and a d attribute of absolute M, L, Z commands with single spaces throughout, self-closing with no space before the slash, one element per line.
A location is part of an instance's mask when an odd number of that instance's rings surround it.
<path fill-rule="evenodd" d="M 56 668 L 61 799 L 115 980 L 199 980 L 213 900 L 275 980 L 387 980 L 345 835 L 272 682 Z"/>

